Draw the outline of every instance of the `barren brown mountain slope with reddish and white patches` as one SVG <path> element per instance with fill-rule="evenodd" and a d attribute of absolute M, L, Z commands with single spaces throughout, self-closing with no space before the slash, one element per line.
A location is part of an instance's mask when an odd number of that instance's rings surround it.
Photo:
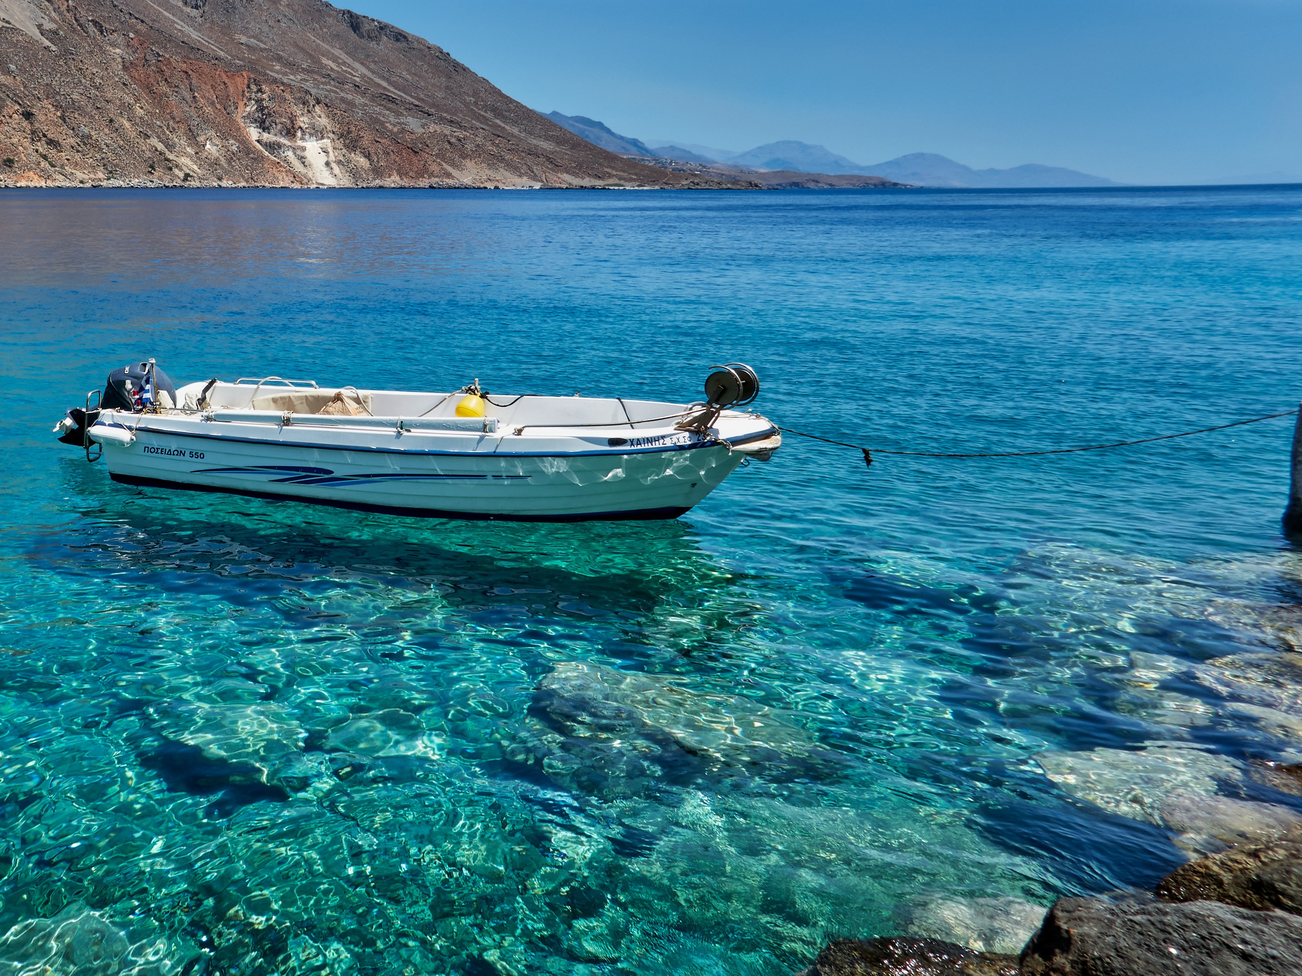
<path fill-rule="evenodd" d="M 717 186 L 322 0 L 0 0 L 0 186 Z"/>

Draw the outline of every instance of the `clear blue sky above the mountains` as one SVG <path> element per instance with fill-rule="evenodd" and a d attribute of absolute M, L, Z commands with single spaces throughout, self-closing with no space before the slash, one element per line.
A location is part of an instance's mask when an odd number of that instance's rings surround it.
<path fill-rule="evenodd" d="M 643 139 L 1142 183 L 1302 176 L 1302 0 L 336 3 Z"/>

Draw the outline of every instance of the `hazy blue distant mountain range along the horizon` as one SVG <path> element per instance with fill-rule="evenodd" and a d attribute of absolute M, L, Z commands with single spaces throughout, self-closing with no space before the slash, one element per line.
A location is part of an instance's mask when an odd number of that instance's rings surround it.
<path fill-rule="evenodd" d="M 954 189 L 1121 186 L 1121 183 L 1101 176 L 1090 176 L 1075 169 L 1044 167 L 1036 163 L 1012 169 L 973 169 L 934 152 L 913 152 L 876 165 L 862 165 L 845 156 L 838 156 L 824 146 L 796 142 L 794 139 L 769 142 L 746 152 L 734 152 L 694 143 L 634 139 L 620 135 L 586 116 L 564 116 L 560 112 L 551 112 L 547 117 L 575 135 L 624 156 L 673 159 L 702 165 L 723 164 L 759 170 L 879 176 L 914 186 Z"/>

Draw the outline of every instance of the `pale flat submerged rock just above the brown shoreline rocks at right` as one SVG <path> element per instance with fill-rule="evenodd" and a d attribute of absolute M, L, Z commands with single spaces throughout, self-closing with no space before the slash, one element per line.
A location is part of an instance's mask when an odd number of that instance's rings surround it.
<path fill-rule="evenodd" d="M 1242 766 L 1234 760 L 1187 746 L 1040 752 L 1035 761 L 1073 796 L 1159 826 L 1167 825 L 1161 807 L 1168 798 L 1211 796 L 1217 781 L 1242 781 Z"/>

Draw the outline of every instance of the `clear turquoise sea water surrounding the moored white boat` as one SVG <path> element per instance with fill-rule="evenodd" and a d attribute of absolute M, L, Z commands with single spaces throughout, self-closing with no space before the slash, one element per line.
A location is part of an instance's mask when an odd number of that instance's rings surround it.
<path fill-rule="evenodd" d="M 1302 811 L 1250 774 L 1297 761 L 1288 690 L 1221 661 L 1298 643 L 1286 420 L 868 471 L 789 439 L 583 526 L 126 489 L 48 433 L 146 355 L 664 398 L 741 359 L 775 419 L 918 450 L 1207 426 L 1298 400 L 1297 189 L 18 191 L 0 226 L 3 960 L 788 973 L 1186 856 L 1044 751 L 1195 746 Z"/>

